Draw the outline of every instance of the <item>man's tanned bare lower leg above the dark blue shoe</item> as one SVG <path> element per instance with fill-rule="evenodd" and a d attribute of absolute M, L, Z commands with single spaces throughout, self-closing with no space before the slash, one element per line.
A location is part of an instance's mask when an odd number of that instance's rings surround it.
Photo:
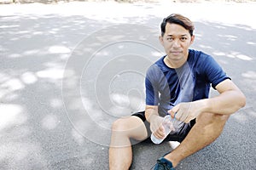
<path fill-rule="evenodd" d="M 194 127 L 191 128 L 183 142 L 175 150 L 165 156 L 176 167 L 179 161 L 211 144 L 222 133 L 225 122 L 229 116 L 211 113 L 202 113 L 196 118 Z"/>

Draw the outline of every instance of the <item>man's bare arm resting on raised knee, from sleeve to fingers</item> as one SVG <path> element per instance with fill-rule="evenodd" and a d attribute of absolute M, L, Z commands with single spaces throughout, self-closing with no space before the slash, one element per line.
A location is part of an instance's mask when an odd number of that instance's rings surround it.
<path fill-rule="evenodd" d="M 246 105 L 245 95 L 230 79 L 219 82 L 216 86 L 218 96 L 200 99 L 193 102 L 180 103 L 168 111 L 172 117 L 182 122 L 190 122 L 201 113 L 230 115 Z"/>

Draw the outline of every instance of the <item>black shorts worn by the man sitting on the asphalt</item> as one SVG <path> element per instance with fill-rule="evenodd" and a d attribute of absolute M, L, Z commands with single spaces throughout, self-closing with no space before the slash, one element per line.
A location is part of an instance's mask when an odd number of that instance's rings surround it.
<path fill-rule="evenodd" d="M 150 131 L 150 125 L 149 122 L 146 121 L 146 116 L 145 116 L 145 111 L 140 111 L 137 113 L 132 114 L 131 116 L 138 116 L 139 118 L 142 119 L 142 121 L 145 124 L 145 127 L 147 128 L 148 131 L 148 136 L 150 136 L 151 131 Z M 182 142 L 183 139 L 186 138 L 187 134 L 189 133 L 190 129 L 195 125 L 195 119 L 190 121 L 189 123 L 183 123 L 183 126 L 177 130 L 176 133 L 169 134 L 165 141 L 177 141 L 177 142 Z"/>

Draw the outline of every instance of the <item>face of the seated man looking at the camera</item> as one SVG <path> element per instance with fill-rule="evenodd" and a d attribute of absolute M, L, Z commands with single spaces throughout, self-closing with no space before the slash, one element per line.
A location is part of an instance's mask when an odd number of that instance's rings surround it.
<path fill-rule="evenodd" d="M 189 31 L 177 24 L 166 24 L 166 32 L 160 37 L 160 42 L 166 50 L 169 59 L 179 60 L 188 56 L 189 46 L 193 43 L 194 36 Z"/>

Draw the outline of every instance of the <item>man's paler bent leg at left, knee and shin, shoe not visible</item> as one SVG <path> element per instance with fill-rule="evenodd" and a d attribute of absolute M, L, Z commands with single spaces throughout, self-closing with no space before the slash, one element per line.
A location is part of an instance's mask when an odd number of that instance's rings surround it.
<path fill-rule="evenodd" d="M 144 122 L 137 116 L 120 118 L 113 122 L 109 148 L 109 169 L 125 170 L 131 167 L 132 139 L 143 140 L 148 137 Z"/>

